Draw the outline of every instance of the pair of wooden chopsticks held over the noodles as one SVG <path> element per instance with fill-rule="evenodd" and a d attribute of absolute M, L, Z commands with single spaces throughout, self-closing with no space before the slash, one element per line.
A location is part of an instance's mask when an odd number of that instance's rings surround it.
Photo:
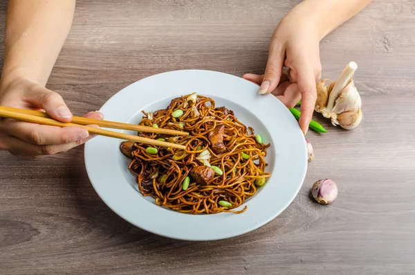
<path fill-rule="evenodd" d="M 181 149 L 181 150 L 185 150 L 184 145 L 180 145 L 176 143 L 168 143 L 165 141 L 157 141 L 154 139 L 147 139 L 141 136 L 134 136 L 132 134 L 112 132 L 109 130 L 89 127 L 86 125 L 98 125 L 100 127 L 109 127 L 109 128 L 121 129 L 121 130 L 135 130 L 135 131 L 140 131 L 140 132 L 152 132 L 152 133 L 157 132 L 160 134 L 172 134 L 172 135 L 182 135 L 182 136 L 188 135 L 187 132 L 181 132 L 181 131 L 176 131 L 176 130 L 146 127 L 142 125 L 118 123 L 118 122 L 113 122 L 113 121 L 101 121 L 98 119 L 83 118 L 83 117 L 78 117 L 78 116 L 74 116 L 71 123 L 62 123 L 60 121 L 56 121 L 53 118 L 50 118 L 50 116 L 48 116 L 48 114 L 44 112 L 37 112 L 33 110 L 28 110 L 28 109 L 16 109 L 12 107 L 3 107 L 3 106 L 0 106 L 0 116 L 4 118 L 17 119 L 19 121 L 26 121 L 29 123 L 38 123 L 38 124 L 58 126 L 58 127 L 68 127 L 68 126 L 83 127 L 84 129 L 88 130 L 88 132 L 91 134 L 98 134 L 100 136 L 109 136 L 109 137 L 113 137 L 116 139 L 136 141 L 136 142 L 145 143 L 149 145 L 171 147 L 171 148 L 176 148 L 176 149 Z"/>

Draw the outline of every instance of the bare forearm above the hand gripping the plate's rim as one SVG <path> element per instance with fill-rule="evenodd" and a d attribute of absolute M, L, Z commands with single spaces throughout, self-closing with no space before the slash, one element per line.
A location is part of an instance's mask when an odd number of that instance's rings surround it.
<path fill-rule="evenodd" d="M 370 2 L 371 0 L 304 0 L 290 13 L 297 18 L 315 21 L 322 39 Z"/>

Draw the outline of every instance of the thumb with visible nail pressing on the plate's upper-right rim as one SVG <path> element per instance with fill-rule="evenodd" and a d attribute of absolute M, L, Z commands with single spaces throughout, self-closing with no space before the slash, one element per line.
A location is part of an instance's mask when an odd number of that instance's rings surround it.
<path fill-rule="evenodd" d="M 264 73 L 264 79 L 259 87 L 258 94 L 270 94 L 277 88 L 279 78 L 282 74 L 282 65 L 284 64 L 285 49 L 276 38 L 270 44 L 268 54 L 268 63 Z"/>

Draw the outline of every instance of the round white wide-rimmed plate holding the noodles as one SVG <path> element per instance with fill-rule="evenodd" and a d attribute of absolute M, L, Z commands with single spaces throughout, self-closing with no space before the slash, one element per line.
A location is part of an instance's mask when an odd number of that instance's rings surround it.
<path fill-rule="evenodd" d="M 177 96 L 196 91 L 210 96 L 216 107 L 234 111 L 239 120 L 254 128 L 271 143 L 266 161 L 273 175 L 241 214 L 190 215 L 154 204 L 137 189 L 120 152 L 122 142 L 97 136 L 85 145 L 85 166 L 101 199 L 131 224 L 160 236 L 181 240 L 218 240 L 247 233 L 273 220 L 293 201 L 302 186 L 307 168 L 306 143 L 298 123 L 272 95 L 259 96 L 253 83 L 215 71 L 170 71 L 139 80 L 119 91 L 102 106 L 108 121 L 138 123 L 141 110 L 155 111 Z M 136 134 L 131 131 L 129 134 Z M 242 209 L 243 204 L 239 209 Z"/>

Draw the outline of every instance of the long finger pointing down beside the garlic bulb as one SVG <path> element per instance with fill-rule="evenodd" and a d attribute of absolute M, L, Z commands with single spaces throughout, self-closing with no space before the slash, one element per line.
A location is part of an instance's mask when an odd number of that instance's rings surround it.
<path fill-rule="evenodd" d="M 308 130 L 311 118 L 313 117 L 315 100 L 317 100 L 317 91 L 315 88 L 315 76 L 312 69 L 306 66 L 298 74 L 298 88 L 301 93 L 301 116 L 299 117 L 299 126 L 304 134 Z"/>

